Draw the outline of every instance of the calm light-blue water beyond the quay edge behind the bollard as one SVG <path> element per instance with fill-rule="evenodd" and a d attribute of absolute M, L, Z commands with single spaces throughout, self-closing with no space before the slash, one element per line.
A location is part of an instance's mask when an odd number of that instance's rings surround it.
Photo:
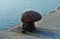
<path fill-rule="evenodd" d="M 20 24 L 25 11 L 34 10 L 44 15 L 59 6 L 60 0 L 0 0 L 0 29 Z"/>

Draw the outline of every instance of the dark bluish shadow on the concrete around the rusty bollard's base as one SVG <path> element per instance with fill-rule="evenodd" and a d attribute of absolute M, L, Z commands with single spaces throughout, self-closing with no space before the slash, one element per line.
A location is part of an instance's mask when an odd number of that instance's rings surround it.
<path fill-rule="evenodd" d="M 49 32 L 48 29 L 36 28 L 36 30 L 34 30 L 33 32 L 26 32 L 26 33 L 22 33 L 21 30 L 22 30 L 22 27 L 17 27 L 15 29 L 10 30 L 10 31 L 16 32 L 19 34 L 28 35 L 28 36 L 34 36 L 34 37 L 40 37 L 40 36 L 53 37 L 55 35 L 55 33 Z"/>

